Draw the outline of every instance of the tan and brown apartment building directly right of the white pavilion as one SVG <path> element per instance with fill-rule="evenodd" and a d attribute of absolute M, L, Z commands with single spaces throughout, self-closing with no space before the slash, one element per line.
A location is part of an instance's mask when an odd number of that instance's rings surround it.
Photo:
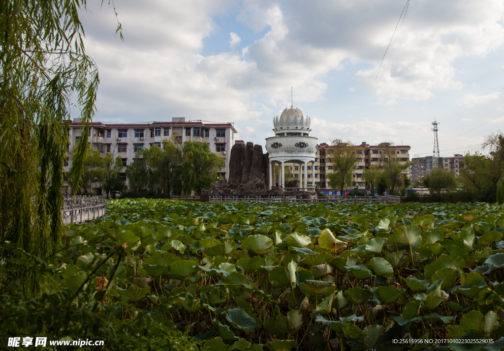
<path fill-rule="evenodd" d="M 326 143 L 322 143 L 319 145 L 317 149 L 317 158 L 315 159 L 315 185 L 318 185 L 321 190 L 331 190 L 329 186 L 329 178 L 328 174 L 333 172 L 333 164 L 331 162 L 331 156 L 334 153 L 334 149 L 336 147 L 332 145 L 328 145 Z M 381 165 L 384 153 L 388 153 L 389 155 L 394 155 L 399 159 L 401 163 L 405 163 L 410 161 L 409 151 L 411 147 L 408 145 L 391 145 L 390 143 L 382 143 L 379 145 L 369 145 L 366 142 L 362 142 L 360 145 L 355 146 L 356 153 L 358 156 L 358 162 L 355 166 L 355 170 L 352 173 L 352 178 L 355 181 L 355 184 L 358 185 L 359 190 L 361 191 L 370 191 L 369 184 L 367 184 L 363 178 L 362 173 L 364 169 L 369 168 L 370 165 Z M 299 166 L 296 165 L 288 165 L 291 168 L 291 172 L 293 173 L 294 179 L 299 179 L 298 171 Z M 308 170 L 311 170 L 311 166 L 307 166 Z M 302 166 L 301 166 L 302 168 Z M 302 169 L 303 170 L 303 169 Z M 411 166 L 405 170 L 405 173 L 408 177 L 411 178 Z M 311 179 L 311 174 L 308 173 L 308 184 L 313 184 L 313 179 Z M 349 188 L 350 189 L 350 188 Z M 353 189 L 353 187 L 351 188 Z"/>

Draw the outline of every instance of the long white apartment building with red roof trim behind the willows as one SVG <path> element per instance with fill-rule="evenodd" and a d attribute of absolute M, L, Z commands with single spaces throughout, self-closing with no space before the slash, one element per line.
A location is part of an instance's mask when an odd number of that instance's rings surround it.
<path fill-rule="evenodd" d="M 69 128 L 69 149 L 72 150 L 81 137 L 83 125 L 75 118 Z M 234 123 L 213 123 L 202 120 L 189 121 L 184 117 L 173 117 L 171 122 L 152 123 L 104 123 L 93 122 L 88 130 L 89 142 L 102 155 L 112 153 L 122 159 L 121 176 L 126 179 L 125 168 L 135 159 L 135 153 L 143 148 L 161 147 L 164 139 L 176 144 L 187 141 L 208 143 L 210 150 L 226 159 L 218 173 L 229 174 L 229 154 L 237 133 Z M 65 164 L 65 171 L 72 167 L 72 159 Z M 128 183 L 127 183 L 128 184 Z"/>

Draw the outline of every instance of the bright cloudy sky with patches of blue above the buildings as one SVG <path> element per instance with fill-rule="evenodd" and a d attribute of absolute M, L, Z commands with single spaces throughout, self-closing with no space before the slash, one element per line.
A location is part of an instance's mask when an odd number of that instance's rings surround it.
<path fill-rule="evenodd" d="M 405 4 L 92 0 L 80 16 L 100 77 L 94 121 L 233 122 L 235 139 L 264 146 L 292 87 L 319 144 L 430 156 L 435 118 L 440 156 L 485 152 L 504 130 L 504 2 L 410 0 L 398 25 Z"/>

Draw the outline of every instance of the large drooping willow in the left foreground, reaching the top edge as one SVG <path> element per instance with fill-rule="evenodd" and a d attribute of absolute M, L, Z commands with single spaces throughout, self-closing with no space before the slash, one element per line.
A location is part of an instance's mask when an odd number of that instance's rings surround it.
<path fill-rule="evenodd" d="M 0 4 L 0 244 L 46 253 L 62 240 L 63 165 L 71 101 L 84 128 L 74 147 L 73 191 L 82 185 L 98 70 L 86 55 L 85 0 Z M 120 29 L 120 26 L 118 27 Z"/>

